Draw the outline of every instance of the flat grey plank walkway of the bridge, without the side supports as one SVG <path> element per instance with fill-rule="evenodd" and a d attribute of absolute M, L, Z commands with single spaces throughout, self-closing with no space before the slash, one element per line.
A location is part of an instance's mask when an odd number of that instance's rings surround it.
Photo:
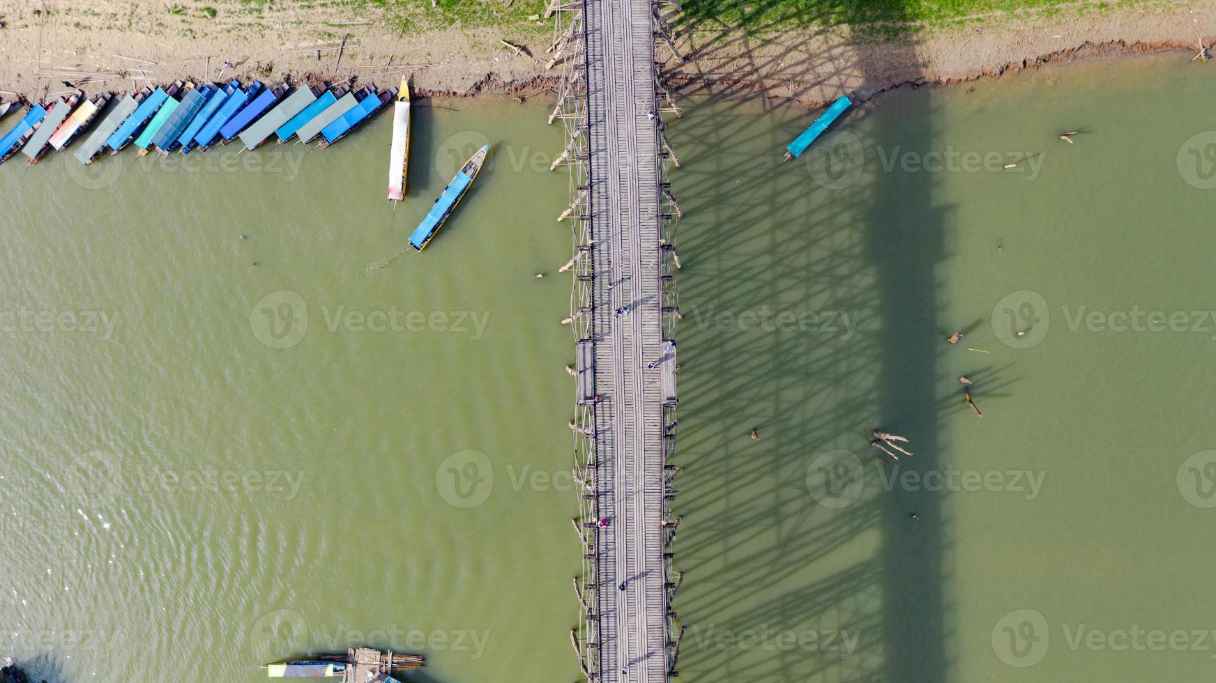
<path fill-rule="evenodd" d="M 586 0 L 599 679 L 666 681 L 658 136 L 648 0 Z M 618 315 L 618 311 L 623 311 Z M 624 582 L 625 591 L 619 589 Z"/>

